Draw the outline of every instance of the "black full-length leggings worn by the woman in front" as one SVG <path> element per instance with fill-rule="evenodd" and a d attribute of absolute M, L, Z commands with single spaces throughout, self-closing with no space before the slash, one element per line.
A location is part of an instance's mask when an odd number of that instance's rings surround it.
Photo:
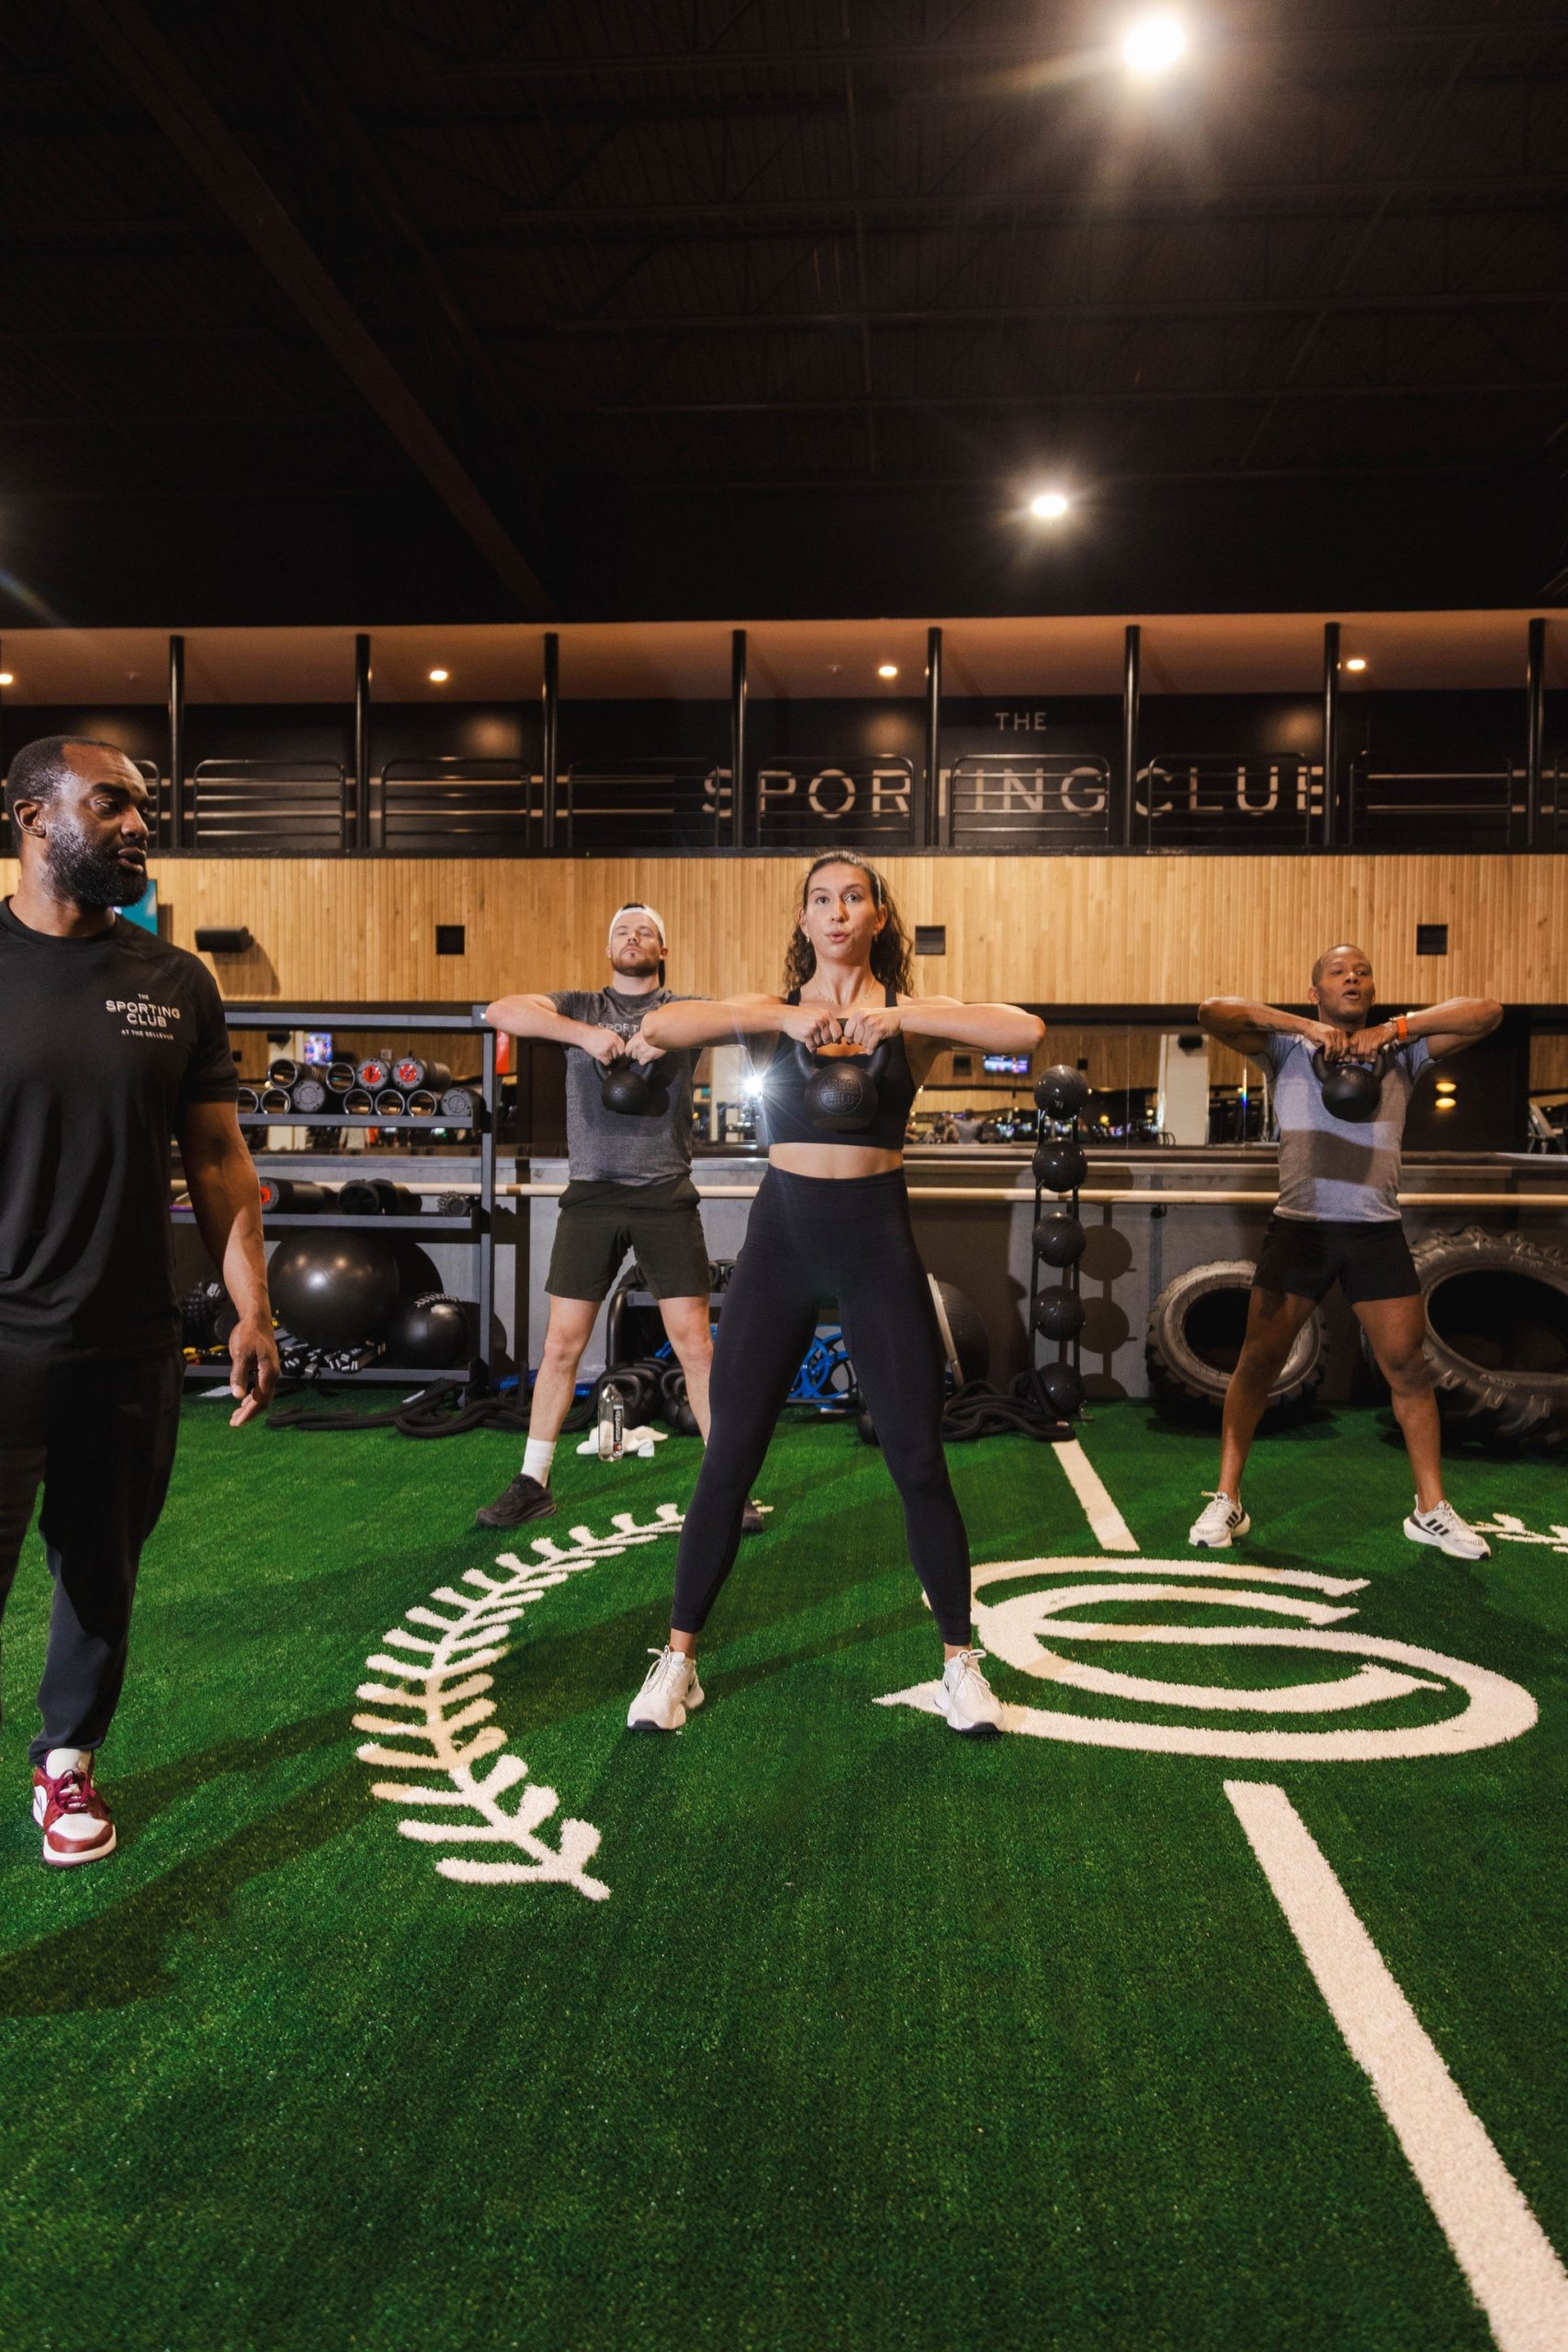
<path fill-rule="evenodd" d="M 966 1644 L 969 1536 L 943 1456 L 943 1338 L 910 1230 L 903 1169 L 788 1176 L 769 1169 L 724 1294 L 712 1350 L 712 1430 L 675 1562 L 675 1632 L 701 1632 L 736 1564 L 741 1512 L 795 1385 L 823 1301 L 839 1322 L 903 1498 L 910 1559 L 943 1642 Z"/>

